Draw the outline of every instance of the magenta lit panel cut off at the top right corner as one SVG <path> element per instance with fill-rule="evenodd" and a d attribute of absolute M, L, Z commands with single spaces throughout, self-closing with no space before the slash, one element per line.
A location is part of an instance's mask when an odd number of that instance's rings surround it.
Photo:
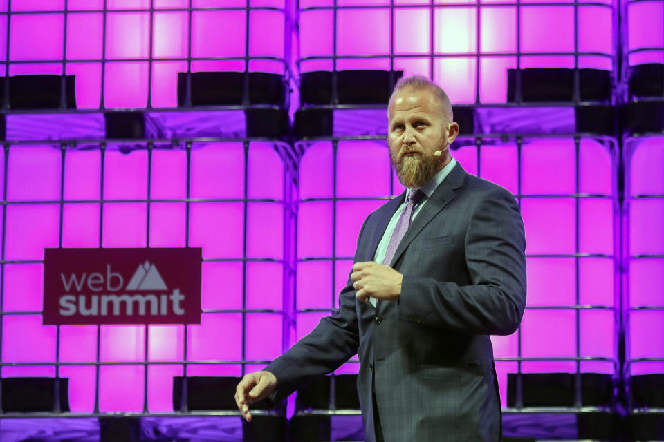
<path fill-rule="evenodd" d="M 627 66 L 664 63 L 664 1 L 623 3 L 623 52 Z"/>

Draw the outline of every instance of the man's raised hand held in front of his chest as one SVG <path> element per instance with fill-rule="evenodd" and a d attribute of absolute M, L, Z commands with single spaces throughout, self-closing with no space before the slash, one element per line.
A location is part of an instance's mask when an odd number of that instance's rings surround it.
<path fill-rule="evenodd" d="M 388 265 L 373 261 L 356 262 L 351 279 L 360 302 L 367 302 L 369 296 L 388 301 L 398 300 L 401 296 L 403 275 Z"/>

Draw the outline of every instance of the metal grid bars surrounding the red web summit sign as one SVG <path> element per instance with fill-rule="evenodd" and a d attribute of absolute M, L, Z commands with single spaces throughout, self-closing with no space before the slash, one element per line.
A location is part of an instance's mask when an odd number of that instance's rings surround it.
<path fill-rule="evenodd" d="M 65 180 L 65 160 L 66 160 L 66 154 L 68 151 L 68 148 L 71 146 L 71 144 L 74 144 L 75 142 L 70 141 L 70 142 L 44 142 L 40 145 L 42 146 L 52 146 L 53 148 L 59 148 L 60 150 L 60 155 L 61 155 L 61 167 L 62 167 L 62 173 L 61 173 L 61 179 L 60 179 L 60 189 L 59 189 L 59 194 L 60 198 L 59 200 L 55 201 L 8 201 L 7 200 L 7 182 L 8 182 L 8 170 L 9 170 L 9 151 L 10 148 L 21 148 L 21 144 L 17 143 L 10 143 L 10 142 L 5 142 L 3 144 L 3 155 L 5 158 L 5 165 L 4 165 L 4 185 L 5 188 L 3 190 L 3 200 L 0 202 L 1 207 L 2 207 L 2 218 L 3 218 L 3 226 L 2 226 L 2 246 L 0 247 L 0 305 L 3 305 L 3 299 L 4 299 L 4 269 L 5 269 L 5 264 L 14 264 L 14 263 L 21 263 L 21 264 L 28 264 L 28 263 L 43 263 L 43 260 L 6 260 L 6 219 L 7 219 L 7 210 L 6 207 L 10 206 L 12 204 L 59 204 L 59 231 L 58 231 L 58 247 L 62 247 L 62 220 L 64 216 L 64 204 L 99 204 L 100 207 L 100 224 L 99 224 L 99 247 L 102 247 L 102 236 L 103 236 L 103 223 L 104 223 L 104 204 L 108 203 L 122 203 L 122 202 L 133 202 L 133 203 L 144 203 L 147 204 L 147 207 L 149 208 L 149 205 L 153 202 L 180 202 L 185 204 L 185 247 L 189 247 L 189 240 L 190 240 L 190 206 L 191 203 L 196 203 L 196 202 L 242 202 L 243 203 L 243 211 L 244 211 L 244 220 L 243 220 L 243 252 L 242 252 L 242 258 L 203 258 L 203 262 L 241 262 L 242 263 L 242 308 L 241 309 L 203 309 L 201 312 L 203 314 L 205 313 L 220 313 L 220 314 L 241 314 L 242 316 L 242 325 L 241 325 L 241 339 L 242 339 L 242 345 L 241 345 L 241 359 L 239 361 L 194 361 L 194 360 L 189 360 L 187 358 L 187 333 L 189 327 L 184 326 L 184 335 L 183 335 L 183 358 L 182 360 L 177 360 L 177 361 L 150 361 L 149 360 L 149 326 L 148 325 L 143 325 L 144 329 L 144 337 L 145 337 L 145 342 L 144 344 L 144 355 L 143 355 L 143 361 L 122 361 L 122 362 L 109 362 L 109 361 L 100 361 L 100 343 L 101 343 L 101 326 L 96 325 L 96 360 L 93 362 L 62 362 L 60 361 L 60 326 L 55 326 L 56 327 L 56 340 L 55 340 L 55 361 L 53 362 L 42 362 L 42 363 L 6 363 L 4 361 L 0 362 L 0 367 L 6 367 L 6 366 L 48 366 L 48 367 L 55 367 L 55 377 L 59 377 L 59 367 L 62 366 L 94 366 L 95 367 L 95 405 L 94 405 L 94 410 L 92 415 L 105 415 L 105 413 L 101 413 L 99 409 L 99 398 L 100 398 L 100 367 L 102 365 L 142 365 L 144 369 L 144 374 L 143 374 L 143 382 L 144 382 L 144 394 L 143 394 L 143 410 L 142 413 L 138 414 L 150 414 L 154 415 L 153 412 L 149 412 L 148 409 L 148 388 L 147 388 L 147 383 L 148 383 L 148 367 L 151 365 L 182 365 L 183 366 L 183 375 L 186 377 L 187 376 L 187 366 L 188 365 L 193 365 L 193 364 L 234 364 L 234 365 L 240 365 L 241 366 L 241 372 L 244 374 L 246 372 L 246 365 L 249 364 L 264 364 L 268 363 L 269 361 L 250 361 L 246 358 L 246 318 L 247 314 L 257 314 L 257 313 L 267 313 L 267 314 L 276 314 L 282 316 L 282 351 L 288 348 L 288 345 L 290 343 L 290 333 L 291 330 L 294 327 L 294 319 L 293 319 L 293 314 L 291 312 L 291 298 L 293 297 L 293 279 L 295 275 L 295 265 L 293 263 L 293 250 L 291 249 L 291 235 L 293 231 L 293 225 L 295 224 L 295 206 L 292 203 L 293 200 L 293 189 L 294 189 L 294 184 L 296 183 L 297 175 L 295 172 L 294 164 L 291 161 L 291 155 L 289 151 L 291 151 L 290 146 L 288 144 L 285 144 L 283 142 L 277 142 L 277 141 L 270 141 L 270 143 L 274 144 L 275 150 L 277 153 L 279 153 L 279 157 L 282 159 L 282 162 L 284 163 L 284 177 L 283 177 L 283 186 L 284 186 L 284 200 L 274 200 L 274 199 L 268 199 L 268 198 L 249 198 L 248 197 L 248 155 L 249 155 L 249 149 L 250 149 L 250 144 L 255 141 L 261 141 L 261 140 L 256 140 L 256 139 L 243 139 L 240 140 L 243 144 L 243 155 L 244 155 L 244 161 L 245 161 L 245 170 L 244 170 L 244 180 L 243 180 L 243 198 L 237 199 L 237 198 L 217 198 L 217 199 L 202 199 L 202 198 L 192 198 L 190 196 L 190 183 L 191 183 L 191 155 L 192 155 L 192 148 L 195 146 L 196 143 L 205 143 L 205 142 L 214 142 L 214 141 L 228 141 L 224 139 L 219 139 L 219 140 L 214 140 L 210 138 L 205 138 L 205 139 L 198 139 L 198 138 L 192 138 L 188 140 L 180 140 L 179 142 L 174 142 L 171 144 L 171 141 L 169 141 L 169 144 L 167 144 L 167 148 L 181 148 L 186 152 L 186 170 L 187 170 L 187 179 L 186 179 L 186 195 L 185 198 L 181 199 L 157 199 L 157 198 L 151 198 L 150 197 L 150 186 L 151 186 L 151 170 L 152 170 L 152 162 L 151 162 L 151 155 L 152 152 L 154 151 L 155 148 L 163 148 L 164 145 L 160 144 L 159 142 L 156 142 L 155 140 L 134 140 L 134 143 L 141 143 L 144 145 L 144 148 L 147 150 L 147 198 L 146 199 L 133 199 L 133 200 L 110 200 L 110 199 L 104 199 L 104 157 L 105 157 L 105 151 L 107 148 L 108 144 L 117 144 L 115 140 L 113 142 L 101 142 L 99 144 L 99 153 L 100 153 L 100 199 L 99 200 L 65 200 L 64 198 L 64 180 Z M 233 140 L 237 142 L 238 140 L 235 139 Z M 80 140 L 81 144 L 86 144 L 89 145 L 90 142 L 89 140 Z M 35 145 L 35 143 L 29 143 L 31 145 Z M 252 202 L 269 202 L 269 203 L 274 203 L 274 204 L 282 204 L 284 206 L 284 258 L 282 260 L 276 260 L 274 258 L 248 258 L 247 257 L 247 210 L 248 210 L 248 204 Z M 149 247 L 150 244 L 150 210 L 147 210 L 147 219 L 146 219 L 146 247 Z M 247 263 L 248 262 L 279 262 L 281 263 L 283 267 L 283 287 L 282 287 L 282 296 L 283 296 L 283 305 L 284 309 L 283 310 L 275 310 L 275 309 L 248 309 L 246 306 L 246 295 L 247 295 Z M 42 314 L 41 311 L 3 311 L 0 310 L 0 321 L 2 321 L 2 318 L 5 316 L 16 316 L 16 315 L 37 315 L 37 314 Z M 2 338 L 3 338 L 3 323 L 0 322 L 0 352 L 2 350 Z M 57 385 L 57 383 L 55 384 Z M 185 384 L 186 385 L 186 384 Z M 186 388 L 186 387 L 185 387 Z M 56 395 L 57 397 L 57 395 Z M 182 408 L 181 410 L 183 412 L 187 412 L 187 407 L 186 407 L 186 392 L 183 391 L 182 395 Z M 55 412 L 60 412 L 59 410 L 59 403 L 56 402 L 55 407 L 57 407 L 57 410 Z M 0 410 L 1 412 L 1 410 Z M 228 414 L 220 412 L 221 415 L 223 414 Z M 215 415 L 220 415 L 220 413 L 214 412 L 212 414 Z M 237 414 L 237 413 L 236 413 Z M 3 414 L 3 416 L 10 416 L 11 414 Z M 52 414 L 48 414 L 52 415 Z M 89 415 L 89 414 L 82 414 L 82 413 L 75 413 L 76 416 L 82 416 L 82 415 Z"/>

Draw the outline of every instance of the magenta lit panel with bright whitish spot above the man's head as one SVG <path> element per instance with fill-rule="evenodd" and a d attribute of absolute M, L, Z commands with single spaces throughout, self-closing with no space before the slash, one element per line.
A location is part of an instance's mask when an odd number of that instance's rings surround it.
<path fill-rule="evenodd" d="M 611 0 L 300 0 L 299 69 L 403 70 L 454 91 L 459 104 L 505 103 L 509 69 L 613 71 L 614 7 Z"/>

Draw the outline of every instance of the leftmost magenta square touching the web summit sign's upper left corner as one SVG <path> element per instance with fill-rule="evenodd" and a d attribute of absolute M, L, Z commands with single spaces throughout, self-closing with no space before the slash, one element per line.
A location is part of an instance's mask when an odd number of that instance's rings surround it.
<path fill-rule="evenodd" d="M 57 204 L 7 206 L 5 258 L 43 260 L 44 247 L 57 247 L 59 213 Z"/>

